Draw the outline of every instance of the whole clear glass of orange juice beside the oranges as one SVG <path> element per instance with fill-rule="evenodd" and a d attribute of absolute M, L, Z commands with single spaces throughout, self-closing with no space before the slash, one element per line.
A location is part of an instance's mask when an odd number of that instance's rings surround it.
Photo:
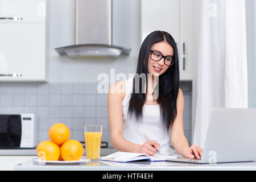
<path fill-rule="evenodd" d="M 100 159 L 102 125 L 85 125 L 85 150 L 87 159 Z"/>

